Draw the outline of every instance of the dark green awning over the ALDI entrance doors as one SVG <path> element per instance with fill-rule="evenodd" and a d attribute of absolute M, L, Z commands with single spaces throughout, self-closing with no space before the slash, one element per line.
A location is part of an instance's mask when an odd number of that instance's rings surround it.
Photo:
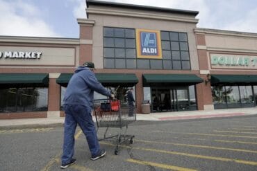
<path fill-rule="evenodd" d="M 197 84 L 204 82 L 197 75 L 193 74 L 144 74 L 143 84 L 149 86 L 151 84 Z"/>

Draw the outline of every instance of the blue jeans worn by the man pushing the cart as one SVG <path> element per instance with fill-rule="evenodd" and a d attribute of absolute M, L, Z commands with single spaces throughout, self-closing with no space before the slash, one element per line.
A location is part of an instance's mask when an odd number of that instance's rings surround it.
<path fill-rule="evenodd" d="M 99 154 L 100 146 L 94 121 L 92 120 L 91 108 L 83 105 L 64 105 L 63 108 L 65 109 L 65 130 L 62 163 L 69 163 L 74 155 L 74 134 L 77 124 L 87 138 L 92 156 Z"/>

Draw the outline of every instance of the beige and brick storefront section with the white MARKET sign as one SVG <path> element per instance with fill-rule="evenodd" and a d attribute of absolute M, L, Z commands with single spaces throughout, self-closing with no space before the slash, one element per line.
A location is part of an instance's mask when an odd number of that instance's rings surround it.
<path fill-rule="evenodd" d="M 79 64 L 79 39 L 0 37 L 0 119 L 60 117 L 60 73 Z"/>

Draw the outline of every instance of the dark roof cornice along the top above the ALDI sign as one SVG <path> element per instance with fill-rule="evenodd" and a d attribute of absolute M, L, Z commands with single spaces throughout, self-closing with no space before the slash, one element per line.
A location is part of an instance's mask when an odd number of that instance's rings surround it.
<path fill-rule="evenodd" d="M 136 10 L 151 10 L 151 11 L 157 11 L 157 12 L 170 12 L 170 13 L 181 14 L 181 15 L 197 16 L 199 14 L 199 11 L 193 11 L 193 10 L 179 10 L 179 9 L 173 9 L 173 8 L 160 8 L 160 7 L 154 7 L 154 6 L 140 6 L 140 5 L 134 5 L 129 3 L 115 3 L 115 2 L 94 1 L 94 0 L 86 0 L 86 3 L 87 3 L 87 8 L 90 5 L 94 5 L 94 6 L 128 8 L 128 9 L 136 9 Z"/>

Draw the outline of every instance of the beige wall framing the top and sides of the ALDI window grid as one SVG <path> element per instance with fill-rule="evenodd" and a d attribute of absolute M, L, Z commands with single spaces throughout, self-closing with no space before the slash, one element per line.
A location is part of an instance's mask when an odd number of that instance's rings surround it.
<path fill-rule="evenodd" d="M 181 21 L 167 21 L 160 19 L 144 19 L 137 17 L 123 17 L 113 15 L 92 15 L 90 20 L 94 20 L 93 27 L 93 62 L 96 67 L 103 69 L 103 26 L 119 28 L 143 28 L 151 30 L 166 30 L 188 33 L 188 44 L 190 50 L 191 69 L 199 70 L 197 57 L 197 46 L 193 29 L 194 23 Z"/>

